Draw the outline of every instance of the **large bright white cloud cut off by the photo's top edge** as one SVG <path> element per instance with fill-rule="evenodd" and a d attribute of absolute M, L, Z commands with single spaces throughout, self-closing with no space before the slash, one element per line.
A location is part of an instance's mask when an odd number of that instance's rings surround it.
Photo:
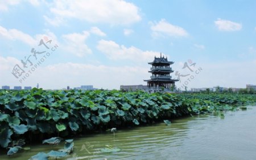
<path fill-rule="evenodd" d="M 139 8 L 133 3 L 122 0 L 86 0 L 53 2 L 50 8 L 51 16 L 44 16 L 53 24 L 63 22 L 63 19 L 76 18 L 90 23 L 108 23 L 112 25 L 129 25 L 141 20 Z"/>

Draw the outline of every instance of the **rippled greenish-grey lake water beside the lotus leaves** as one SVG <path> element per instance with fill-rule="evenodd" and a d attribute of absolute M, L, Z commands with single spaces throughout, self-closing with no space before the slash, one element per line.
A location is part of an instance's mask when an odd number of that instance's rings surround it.
<path fill-rule="evenodd" d="M 171 126 L 118 129 L 75 139 L 74 153 L 64 159 L 256 159 L 256 107 L 225 113 L 224 118 L 199 115 L 171 120 Z M 105 145 L 121 149 L 101 153 Z M 34 145 L 31 150 L 0 159 L 28 159 L 38 152 L 63 148 Z"/>

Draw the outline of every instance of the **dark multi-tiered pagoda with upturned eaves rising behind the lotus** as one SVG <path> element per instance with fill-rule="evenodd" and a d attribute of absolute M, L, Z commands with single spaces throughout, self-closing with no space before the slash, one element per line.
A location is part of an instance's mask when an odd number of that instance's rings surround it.
<path fill-rule="evenodd" d="M 152 76 L 150 76 L 150 80 L 144 80 L 147 82 L 147 87 L 164 87 L 170 89 L 175 86 L 175 81 L 178 80 L 174 80 L 170 76 L 170 73 L 174 72 L 170 65 L 174 64 L 174 62 L 168 61 L 167 57 L 164 58 L 164 56 L 162 57 L 162 54 L 160 54 L 160 58 L 155 57 L 155 60 L 148 64 L 152 65 L 150 71 L 148 71 L 152 73 Z"/>

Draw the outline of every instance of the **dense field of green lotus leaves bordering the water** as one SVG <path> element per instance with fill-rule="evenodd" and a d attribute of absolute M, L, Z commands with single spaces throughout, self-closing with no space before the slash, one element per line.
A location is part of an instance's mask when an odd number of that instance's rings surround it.
<path fill-rule="evenodd" d="M 223 116 L 223 111 L 255 102 L 255 94 L 0 90 L 0 146 L 8 148 L 19 146 L 14 144 L 21 140 L 29 143 L 49 137 L 75 137 L 163 120 L 166 123 L 187 115 Z"/>

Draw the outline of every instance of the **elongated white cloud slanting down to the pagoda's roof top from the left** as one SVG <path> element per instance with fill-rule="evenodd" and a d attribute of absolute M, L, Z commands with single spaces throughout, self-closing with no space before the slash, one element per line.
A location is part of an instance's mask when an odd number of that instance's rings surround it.
<path fill-rule="evenodd" d="M 137 47 L 126 47 L 118 45 L 114 41 L 100 40 L 97 45 L 97 49 L 104 53 L 109 59 L 128 59 L 134 62 L 147 63 L 154 59 L 158 52 L 155 51 L 142 51 Z"/>

